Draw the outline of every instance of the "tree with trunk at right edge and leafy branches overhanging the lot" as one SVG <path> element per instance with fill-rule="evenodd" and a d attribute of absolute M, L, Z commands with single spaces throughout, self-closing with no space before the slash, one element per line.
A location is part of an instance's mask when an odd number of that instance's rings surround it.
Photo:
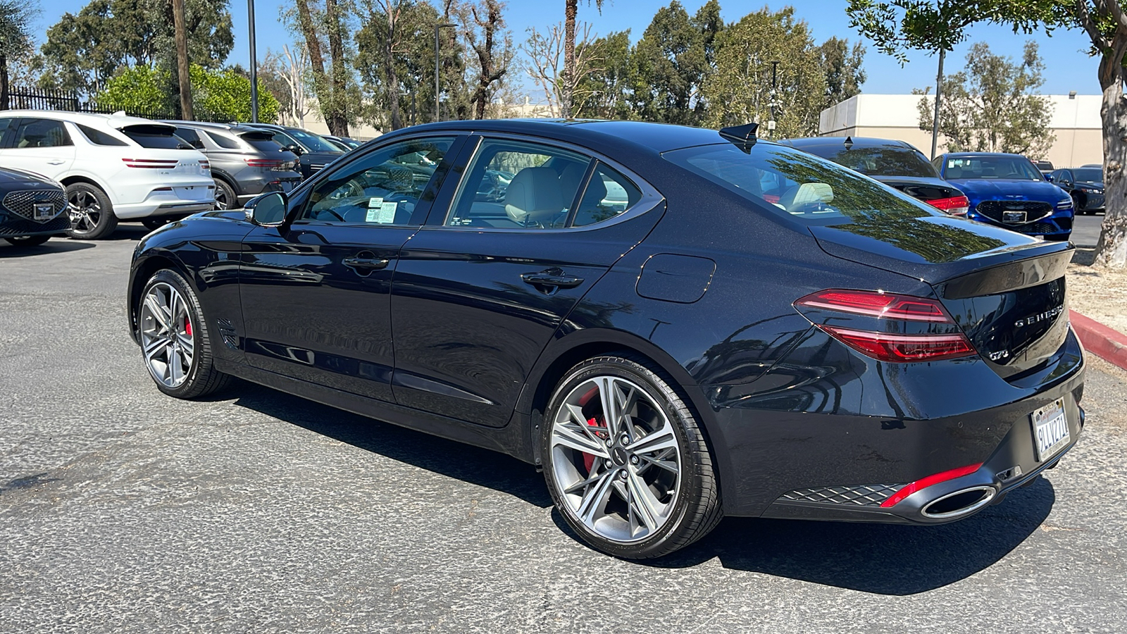
<path fill-rule="evenodd" d="M 950 51 L 975 23 L 1006 24 L 1014 32 L 1076 27 L 1099 56 L 1103 90 L 1103 180 L 1107 214 L 1095 264 L 1127 267 L 1127 14 L 1121 0 L 850 0 L 846 12 L 862 35 L 902 62 L 907 51 Z"/>

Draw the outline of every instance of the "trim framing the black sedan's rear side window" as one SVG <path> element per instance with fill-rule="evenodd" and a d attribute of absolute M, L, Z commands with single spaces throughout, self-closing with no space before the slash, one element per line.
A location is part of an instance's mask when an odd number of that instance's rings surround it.
<path fill-rule="evenodd" d="M 603 222 L 596 222 L 594 224 L 586 224 L 583 227 L 564 227 L 560 229 L 545 230 L 545 229 L 495 229 L 490 227 L 447 226 L 445 224 L 446 215 L 450 213 L 450 209 L 454 204 L 454 196 L 461 190 L 462 180 L 469 177 L 469 165 L 477 156 L 480 144 L 487 139 L 490 140 L 504 139 L 507 141 L 535 143 L 549 148 L 558 148 L 560 150 L 566 150 L 569 152 L 586 156 L 591 159 L 594 159 L 588 165 L 588 171 L 593 173 L 595 169 L 597 169 L 598 164 L 603 164 L 610 167 L 611 169 L 618 171 L 622 176 L 624 176 L 631 183 L 633 183 L 633 185 L 638 187 L 638 190 L 641 192 L 641 197 L 638 199 L 638 202 L 635 203 L 630 209 L 625 210 L 619 215 L 604 220 Z M 635 217 L 641 215 L 642 213 L 647 213 L 650 210 L 656 209 L 660 203 L 665 201 L 665 196 L 656 187 L 650 185 L 648 180 L 638 176 L 638 174 L 636 174 L 633 170 L 615 161 L 614 159 L 611 159 L 605 155 L 602 155 L 588 148 L 575 146 L 566 141 L 545 139 L 542 137 L 511 134 L 505 132 L 486 132 L 486 133 L 471 132 L 470 141 L 467 142 L 467 147 L 463 150 L 462 156 L 458 157 L 458 164 L 459 165 L 456 167 L 461 169 L 459 178 L 454 179 L 446 178 L 447 183 L 443 187 L 443 192 L 441 192 L 440 197 L 435 200 L 435 204 L 432 205 L 431 214 L 427 217 L 426 222 L 423 224 L 423 229 L 425 230 L 436 229 L 436 230 L 449 230 L 449 231 L 471 230 L 474 232 L 488 232 L 488 234 L 525 234 L 525 232 L 559 234 L 559 232 L 592 231 L 602 229 L 604 227 L 610 227 L 612 224 L 618 224 L 619 222 L 624 222 Z M 588 176 L 587 179 L 584 182 L 584 186 L 580 187 L 579 191 L 576 193 L 578 196 L 580 196 L 579 200 L 582 200 L 582 196 L 586 193 L 587 188 L 586 185 L 589 184 L 589 182 L 591 178 Z"/>

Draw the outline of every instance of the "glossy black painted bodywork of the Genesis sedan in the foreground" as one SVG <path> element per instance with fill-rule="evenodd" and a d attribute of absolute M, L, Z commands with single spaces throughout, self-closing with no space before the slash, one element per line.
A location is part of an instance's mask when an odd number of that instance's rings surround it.
<path fill-rule="evenodd" d="M 559 377 L 594 354 L 632 351 L 682 389 L 719 466 L 725 511 L 740 516 L 849 519 L 775 501 L 807 486 L 907 483 L 995 458 L 1024 460 L 1018 446 L 1029 438 L 1020 430 L 1054 398 L 1077 420 L 1083 360 L 1066 316 L 1035 320 L 1023 342 L 997 336 L 1004 320 L 1054 309 L 1071 247 L 923 208 L 893 226 L 808 227 L 662 158 L 722 142 L 715 131 L 428 124 L 350 152 L 293 201 L 355 157 L 436 131 L 467 142 L 447 153 L 433 204 L 411 227 L 268 228 L 212 212 L 147 236 L 131 273 L 131 331 L 140 288 L 174 266 L 215 329 L 232 335 L 233 346 L 219 352 L 222 371 L 530 463 L 540 461 L 538 425 Z M 443 227 L 477 137 L 491 134 L 580 149 L 659 199 L 583 229 Z M 361 255 L 388 263 L 362 274 L 346 262 Z M 559 288 L 544 276 L 580 281 Z M 976 343 L 1011 358 L 878 362 L 815 325 L 841 316 L 792 306 L 827 288 L 939 299 Z M 860 519 L 919 521 L 912 508 Z"/>

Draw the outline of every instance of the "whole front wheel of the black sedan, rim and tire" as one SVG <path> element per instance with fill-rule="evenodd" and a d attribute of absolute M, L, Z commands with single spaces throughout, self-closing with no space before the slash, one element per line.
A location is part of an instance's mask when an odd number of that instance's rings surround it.
<path fill-rule="evenodd" d="M 195 398 L 227 385 L 215 369 L 212 342 L 196 293 L 175 271 L 158 271 L 137 306 L 141 354 L 157 387 L 169 396 Z"/>

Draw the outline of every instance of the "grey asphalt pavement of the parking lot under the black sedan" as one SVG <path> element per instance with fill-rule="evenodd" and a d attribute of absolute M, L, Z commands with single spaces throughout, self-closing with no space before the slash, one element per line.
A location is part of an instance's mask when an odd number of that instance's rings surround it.
<path fill-rule="evenodd" d="M 728 518 L 632 563 L 515 459 L 245 382 L 161 395 L 125 332 L 143 232 L 0 246 L 0 632 L 1127 631 L 1127 373 L 1099 360 L 1077 446 L 967 520 Z"/>

